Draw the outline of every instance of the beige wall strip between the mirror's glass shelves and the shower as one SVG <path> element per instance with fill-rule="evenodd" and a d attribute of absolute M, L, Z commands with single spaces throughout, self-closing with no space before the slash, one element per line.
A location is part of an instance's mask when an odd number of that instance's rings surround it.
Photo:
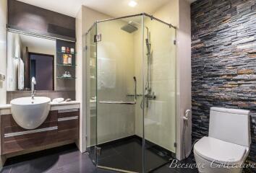
<path fill-rule="evenodd" d="M 90 97 L 86 97 L 86 82 L 88 78 L 86 76 L 86 59 L 85 59 L 85 33 L 93 25 L 93 23 L 100 19 L 108 19 L 106 14 L 97 12 L 93 9 L 90 9 L 86 6 L 82 6 L 80 12 L 77 13 L 76 17 L 76 99 L 81 102 L 80 108 L 80 141 L 77 145 L 80 148 L 80 151 L 84 152 L 86 149 L 86 113 L 89 112 L 86 109 L 88 102 L 90 102 Z"/>

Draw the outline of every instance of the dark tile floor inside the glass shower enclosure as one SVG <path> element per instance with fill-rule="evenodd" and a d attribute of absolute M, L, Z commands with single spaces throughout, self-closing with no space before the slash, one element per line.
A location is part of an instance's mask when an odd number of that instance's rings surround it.
<path fill-rule="evenodd" d="M 131 172 L 142 172 L 142 140 L 139 138 L 128 138 L 124 141 L 104 144 L 101 149 L 101 156 L 98 156 L 98 165 Z M 161 151 L 157 151 L 150 146 L 146 147 L 146 172 L 165 165 L 169 162 L 169 159 L 165 157 L 165 154 L 161 154 Z"/>

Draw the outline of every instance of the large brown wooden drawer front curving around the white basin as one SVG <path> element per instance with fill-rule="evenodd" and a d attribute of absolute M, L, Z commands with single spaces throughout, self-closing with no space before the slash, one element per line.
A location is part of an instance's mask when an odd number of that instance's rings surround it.
<path fill-rule="evenodd" d="M 1 115 L 1 154 L 9 154 L 57 142 L 58 112 L 50 111 L 38 128 L 27 130 L 14 121 L 12 115 Z"/>

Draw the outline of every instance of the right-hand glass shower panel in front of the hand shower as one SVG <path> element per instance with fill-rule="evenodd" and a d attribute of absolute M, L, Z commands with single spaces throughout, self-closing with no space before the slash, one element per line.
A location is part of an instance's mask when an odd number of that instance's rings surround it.
<path fill-rule="evenodd" d="M 176 30 L 144 17 L 144 116 L 136 125 L 142 129 L 144 117 L 145 168 L 150 167 L 153 151 L 161 156 L 158 166 L 176 153 Z"/>

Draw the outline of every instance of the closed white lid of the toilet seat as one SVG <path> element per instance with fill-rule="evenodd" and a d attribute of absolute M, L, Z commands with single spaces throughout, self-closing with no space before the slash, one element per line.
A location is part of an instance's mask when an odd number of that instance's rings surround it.
<path fill-rule="evenodd" d="M 217 164 L 239 164 L 244 161 L 248 148 L 216 138 L 203 137 L 195 143 L 194 151 Z"/>

